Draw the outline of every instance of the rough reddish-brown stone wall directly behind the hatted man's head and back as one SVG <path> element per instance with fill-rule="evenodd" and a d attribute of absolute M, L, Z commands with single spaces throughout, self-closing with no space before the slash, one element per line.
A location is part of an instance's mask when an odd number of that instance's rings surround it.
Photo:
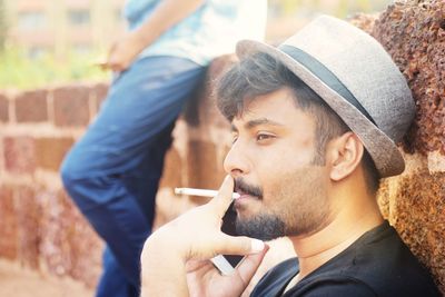
<path fill-rule="evenodd" d="M 406 77 L 416 119 L 404 139 L 407 168 L 383 181 L 383 214 L 445 295 L 445 1 L 392 4 L 353 21 L 374 36 Z"/>

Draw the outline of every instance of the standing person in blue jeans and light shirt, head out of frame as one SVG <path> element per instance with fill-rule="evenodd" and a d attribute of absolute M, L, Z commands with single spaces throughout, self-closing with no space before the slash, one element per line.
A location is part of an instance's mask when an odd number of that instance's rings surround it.
<path fill-rule="evenodd" d="M 108 98 L 63 161 L 67 191 L 106 240 L 97 296 L 138 296 L 140 251 L 171 129 L 215 57 L 261 39 L 266 0 L 129 0 Z"/>

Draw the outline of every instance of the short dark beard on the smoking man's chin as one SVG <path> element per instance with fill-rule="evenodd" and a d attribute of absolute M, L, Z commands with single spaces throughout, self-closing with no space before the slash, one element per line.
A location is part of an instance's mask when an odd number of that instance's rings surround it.
<path fill-rule="evenodd" d="M 264 241 L 286 236 L 285 222 L 273 215 L 259 215 L 250 219 L 235 221 L 237 235 L 257 238 Z"/>

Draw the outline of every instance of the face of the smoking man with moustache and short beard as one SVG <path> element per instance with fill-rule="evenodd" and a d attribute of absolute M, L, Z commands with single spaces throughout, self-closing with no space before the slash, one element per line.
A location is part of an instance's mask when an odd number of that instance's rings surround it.
<path fill-rule="evenodd" d="M 264 240 L 312 234 L 328 219 L 325 167 L 315 158 L 315 119 L 283 88 L 246 102 L 233 120 L 225 169 L 235 178 L 236 227 Z"/>

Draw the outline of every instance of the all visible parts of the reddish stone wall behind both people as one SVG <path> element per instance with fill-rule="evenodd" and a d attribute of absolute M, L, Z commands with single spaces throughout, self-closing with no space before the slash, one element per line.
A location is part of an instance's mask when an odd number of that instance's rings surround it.
<path fill-rule="evenodd" d="M 354 23 L 375 36 L 406 76 L 417 118 L 400 149 L 405 172 L 384 180 L 385 217 L 431 269 L 445 294 L 445 2 L 408 1 Z M 217 188 L 230 137 L 214 106 L 215 77 L 233 57 L 216 60 L 174 130 L 157 197 L 159 226 L 201 198 L 177 197 L 175 187 Z M 106 85 L 0 93 L 0 257 L 95 286 L 101 240 L 62 190 L 60 162 L 97 113 Z M 290 255 L 273 244 L 267 266 Z"/>

